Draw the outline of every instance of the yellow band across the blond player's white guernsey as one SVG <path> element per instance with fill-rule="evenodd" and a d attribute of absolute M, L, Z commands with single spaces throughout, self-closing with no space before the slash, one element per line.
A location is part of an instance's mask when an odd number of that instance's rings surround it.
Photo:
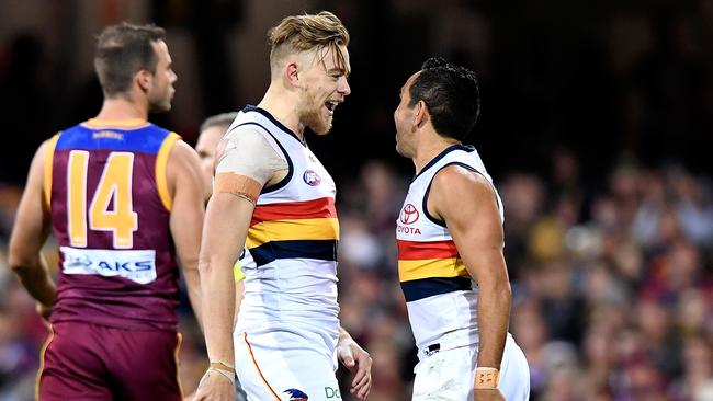
<path fill-rule="evenodd" d="M 250 227 L 246 245 L 291 240 L 339 240 L 339 222 L 336 218 L 263 221 Z"/>

